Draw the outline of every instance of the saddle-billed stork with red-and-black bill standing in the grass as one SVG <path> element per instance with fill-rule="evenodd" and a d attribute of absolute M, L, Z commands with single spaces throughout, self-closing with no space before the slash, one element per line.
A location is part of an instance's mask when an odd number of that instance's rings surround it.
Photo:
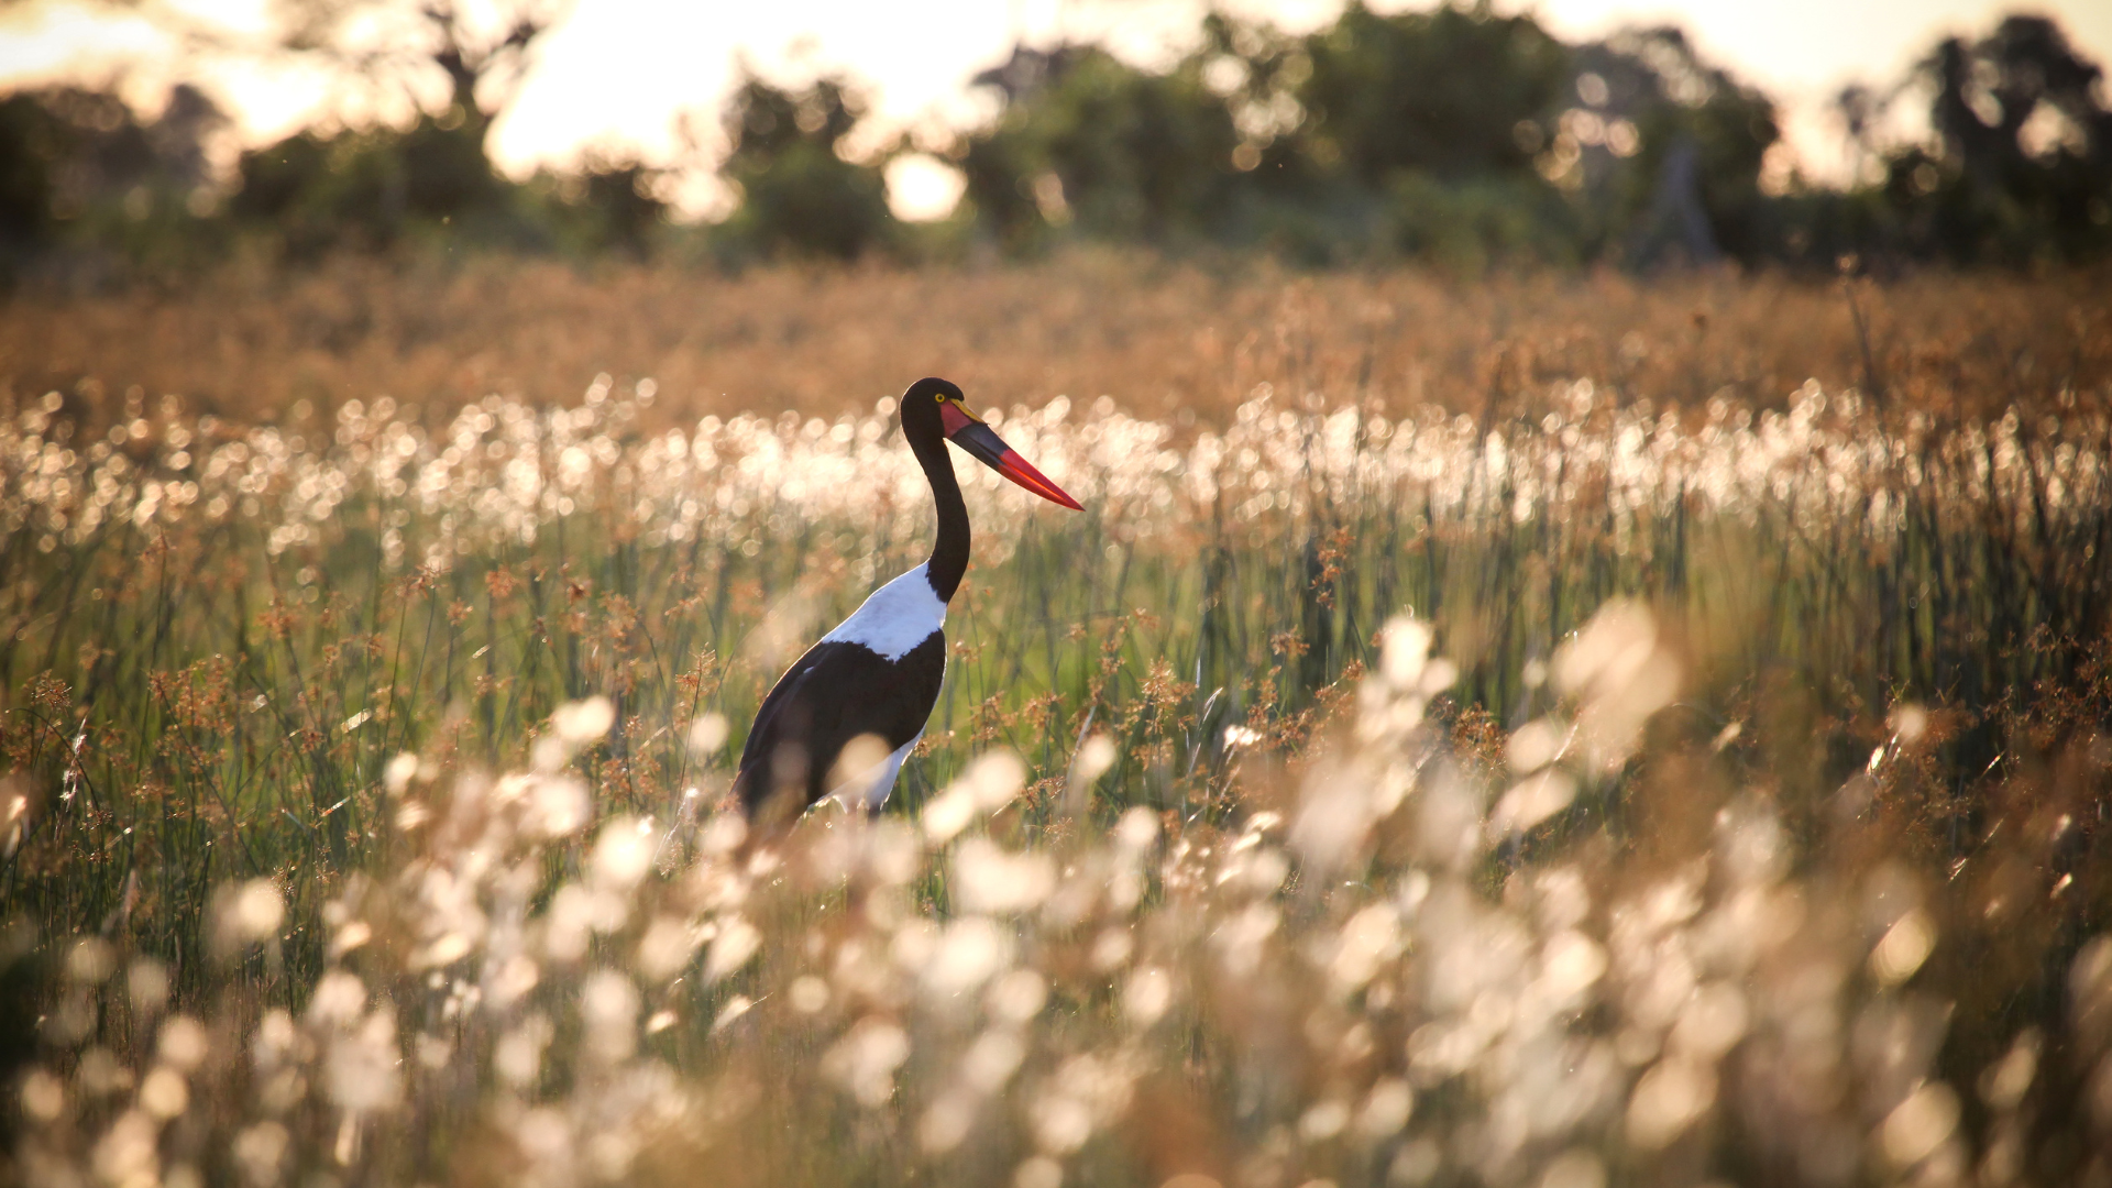
<path fill-rule="evenodd" d="M 931 560 L 874 590 L 762 698 L 733 778 L 750 820 L 781 824 L 824 797 L 879 812 L 923 738 L 946 676 L 946 602 L 967 573 L 967 505 L 946 442 L 1050 503 L 1083 509 L 942 378 L 921 378 L 902 393 L 902 435 L 938 503 Z M 851 746 L 866 736 L 879 742 Z"/>

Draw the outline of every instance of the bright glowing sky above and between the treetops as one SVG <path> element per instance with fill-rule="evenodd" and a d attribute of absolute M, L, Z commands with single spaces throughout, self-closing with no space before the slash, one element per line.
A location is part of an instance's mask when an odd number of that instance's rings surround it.
<path fill-rule="evenodd" d="M 215 23 L 253 27 L 262 0 L 169 0 Z M 1307 30 L 1337 0 L 1238 0 L 1229 8 Z M 1402 4 L 1375 4 L 1398 8 Z M 2019 4 L 2000 0 L 1538 0 L 1559 36 L 1590 38 L 1628 23 L 1677 23 L 1702 53 L 1757 82 L 1787 108 L 1791 146 L 1821 178 L 1840 173 L 1840 140 L 1825 99 L 1846 82 L 1892 82 L 1943 34 L 1981 34 Z M 2023 4 L 2061 21 L 2068 36 L 2112 66 L 2112 2 Z M 716 110 L 737 55 L 792 80 L 815 68 L 849 70 L 872 87 L 876 131 L 961 127 L 982 114 L 967 80 L 1003 61 L 1012 42 L 1109 38 L 1145 61 L 1181 49 L 1204 4 L 1195 0 L 775 0 L 697 4 L 682 0 L 577 0 L 539 42 L 534 68 L 494 131 L 494 156 L 526 173 L 570 163 L 589 146 L 629 148 L 670 161 L 676 116 L 716 137 Z M 99 15 L 103 13 L 103 15 Z M 167 40 L 137 19 L 89 11 L 78 0 L 40 0 L 0 17 L 0 87 L 131 70 L 158 91 Z M 306 78 L 215 70 L 207 78 L 239 116 L 245 140 L 268 140 L 306 123 L 334 97 Z M 895 209 L 931 218 L 950 207 L 957 182 L 938 163 L 898 163 Z M 689 205 L 710 205 L 710 192 Z"/>

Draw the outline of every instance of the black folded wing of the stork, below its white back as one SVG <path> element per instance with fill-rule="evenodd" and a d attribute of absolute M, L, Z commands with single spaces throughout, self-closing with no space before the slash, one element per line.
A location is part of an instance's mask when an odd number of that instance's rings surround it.
<path fill-rule="evenodd" d="M 895 750 L 923 731 L 946 676 L 946 636 L 931 632 L 900 660 L 862 643 L 822 641 L 762 698 L 733 786 L 754 816 L 784 784 L 807 808 L 828 795 L 828 769 L 853 738 L 876 734 Z"/>

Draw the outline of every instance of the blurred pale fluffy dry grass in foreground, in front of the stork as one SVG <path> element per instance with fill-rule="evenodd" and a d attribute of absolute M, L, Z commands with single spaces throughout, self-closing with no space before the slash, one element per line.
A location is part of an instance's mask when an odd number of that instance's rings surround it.
<path fill-rule="evenodd" d="M 589 827 L 581 772 L 625 750 L 606 700 L 562 706 L 530 772 L 403 755 L 372 860 L 315 915 L 256 877 L 220 888 L 203 953 L 49 943 L 0 1167 L 171 1188 L 2112 1173 L 2112 939 L 2074 926 L 2104 896 L 2104 833 L 2076 824 L 2101 744 L 1977 788 L 1992 824 L 1947 879 L 1871 808 L 1916 782 L 1926 723 L 1816 835 L 1740 748 L 1660 740 L 1630 793 L 1647 839 L 1550 843 L 1571 797 L 1611 799 L 1677 647 L 1609 605 L 1552 657 L 1546 714 L 1478 765 L 1428 717 L 1455 672 L 1428 641 L 1390 624 L 1335 744 L 1295 774 L 1257 757 L 1223 822 L 1113 816 L 1100 753 L 1054 795 L 1105 824 L 1052 835 L 997 753 L 912 818 L 811 816 L 771 848 L 699 797 Z M 186 962 L 209 981 L 171 1000 Z"/>

